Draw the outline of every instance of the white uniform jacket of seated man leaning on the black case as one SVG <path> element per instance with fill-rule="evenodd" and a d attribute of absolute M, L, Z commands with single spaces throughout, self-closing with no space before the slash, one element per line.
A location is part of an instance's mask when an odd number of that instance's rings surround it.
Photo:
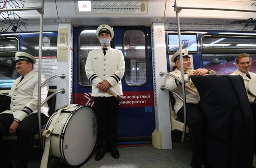
<path fill-rule="evenodd" d="M 186 73 L 190 73 L 192 71 L 193 71 L 192 69 L 189 69 Z M 178 70 L 177 68 L 174 71 L 170 72 L 170 74 L 173 74 L 174 76 L 182 80 L 181 71 Z M 213 70 L 209 70 L 209 74 L 216 74 L 216 72 Z M 194 103 L 194 104 L 198 103 L 200 101 L 200 96 L 198 94 L 197 89 L 195 88 L 194 83 L 188 77 L 188 74 L 184 74 L 184 81 L 185 81 L 185 90 L 186 90 L 186 102 Z M 169 90 L 174 91 L 175 93 L 177 93 L 183 98 L 182 83 L 180 83 L 179 81 L 177 81 L 171 76 L 167 76 L 165 86 Z M 175 98 L 174 110 L 177 113 L 179 109 L 182 108 L 183 101 L 180 100 L 177 96 L 175 96 L 175 94 L 174 94 L 174 98 Z"/>

